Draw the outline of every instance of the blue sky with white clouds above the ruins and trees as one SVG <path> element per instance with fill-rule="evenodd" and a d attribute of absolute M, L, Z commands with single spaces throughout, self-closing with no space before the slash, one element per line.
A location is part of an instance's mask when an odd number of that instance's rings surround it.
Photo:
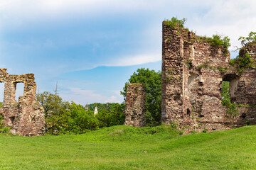
<path fill-rule="evenodd" d="M 161 24 L 186 18 L 197 35 L 238 38 L 256 31 L 252 0 L 0 0 L 0 68 L 33 73 L 39 92 L 65 101 L 122 103 L 139 68 L 161 71 Z M 4 96 L 0 86 L 0 101 Z M 23 94 L 18 84 L 16 96 Z"/>

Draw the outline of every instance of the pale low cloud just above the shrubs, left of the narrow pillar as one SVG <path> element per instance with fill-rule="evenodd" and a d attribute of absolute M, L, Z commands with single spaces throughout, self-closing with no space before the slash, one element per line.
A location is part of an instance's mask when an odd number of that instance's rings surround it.
<path fill-rule="evenodd" d="M 85 103 L 120 103 L 121 101 L 117 98 L 121 96 L 102 96 L 101 94 L 95 93 L 92 90 L 84 90 L 80 88 L 70 88 L 70 91 L 66 91 L 60 94 L 60 96 L 66 101 L 75 101 L 85 105 Z"/>

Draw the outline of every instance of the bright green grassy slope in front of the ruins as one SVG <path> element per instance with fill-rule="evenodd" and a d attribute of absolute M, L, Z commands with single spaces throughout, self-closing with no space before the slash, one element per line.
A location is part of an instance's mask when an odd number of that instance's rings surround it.
<path fill-rule="evenodd" d="M 164 126 L 0 135 L 0 147 L 0 169 L 256 169 L 256 126 L 183 136 Z"/>

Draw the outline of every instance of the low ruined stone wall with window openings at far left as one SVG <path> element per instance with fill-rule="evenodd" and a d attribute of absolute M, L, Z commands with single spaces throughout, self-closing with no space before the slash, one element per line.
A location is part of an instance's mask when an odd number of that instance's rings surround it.
<path fill-rule="evenodd" d="M 4 125 L 11 127 L 13 135 L 42 135 L 45 128 L 43 106 L 36 101 L 34 74 L 9 75 L 0 69 L 0 82 L 4 83 L 4 103 L 0 114 Z M 24 84 L 23 96 L 15 100 L 16 84 Z"/>

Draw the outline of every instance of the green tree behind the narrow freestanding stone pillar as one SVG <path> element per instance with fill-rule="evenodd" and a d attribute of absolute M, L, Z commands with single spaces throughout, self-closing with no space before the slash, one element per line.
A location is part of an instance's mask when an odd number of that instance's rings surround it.
<path fill-rule="evenodd" d="M 146 125 L 159 125 L 161 123 L 161 72 L 144 68 L 137 69 L 121 91 L 124 101 L 126 100 L 126 86 L 129 83 L 140 83 L 146 87 Z"/>

